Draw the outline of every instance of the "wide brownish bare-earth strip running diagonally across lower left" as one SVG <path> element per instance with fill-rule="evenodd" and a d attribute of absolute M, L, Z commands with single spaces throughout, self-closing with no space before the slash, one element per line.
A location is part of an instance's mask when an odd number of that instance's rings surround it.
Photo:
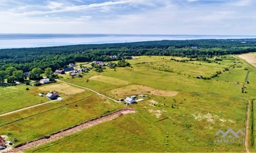
<path fill-rule="evenodd" d="M 56 141 L 56 140 L 58 140 L 60 138 L 63 138 L 67 135 L 71 135 L 73 133 L 80 132 L 80 131 L 82 131 L 84 129 L 87 129 L 91 126 L 100 124 L 100 123 L 105 122 L 105 121 L 113 120 L 113 119 L 115 119 L 115 118 L 117 118 L 121 115 L 129 114 L 129 113 L 135 113 L 134 109 L 133 108 L 121 109 L 121 110 L 119 110 L 117 112 L 114 112 L 112 114 L 109 114 L 109 115 L 106 115 L 106 116 L 103 116 L 103 117 L 99 117 L 99 118 L 91 120 L 91 121 L 84 122 L 80 125 L 72 127 L 71 129 L 62 130 L 58 133 L 52 134 L 48 139 L 43 138 L 43 139 L 34 140 L 32 142 L 27 142 L 25 145 L 17 147 L 17 148 L 13 148 L 12 150 L 10 150 L 8 152 L 22 152 L 26 149 L 36 147 L 36 146 L 39 146 L 39 145 L 42 145 L 42 144 L 45 144 L 45 143 L 49 143 L 49 142 L 52 142 L 52 141 Z"/>

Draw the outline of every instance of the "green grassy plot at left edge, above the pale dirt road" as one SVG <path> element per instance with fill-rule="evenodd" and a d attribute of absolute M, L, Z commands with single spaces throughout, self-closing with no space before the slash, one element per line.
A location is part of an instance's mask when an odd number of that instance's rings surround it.
<path fill-rule="evenodd" d="M 45 97 L 38 96 L 40 91 L 37 87 L 28 86 L 29 90 L 25 90 L 26 87 L 23 84 L 0 87 L 0 114 L 49 101 Z"/>

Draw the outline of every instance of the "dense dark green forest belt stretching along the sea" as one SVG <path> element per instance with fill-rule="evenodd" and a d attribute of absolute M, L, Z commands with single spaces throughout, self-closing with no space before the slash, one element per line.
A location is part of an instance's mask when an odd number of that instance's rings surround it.
<path fill-rule="evenodd" d="M 31 71 L 47 67 L 52 70 L 69 63 L 112 61 L 131 56 L 157 55 L 206 59 L 226 54 L 256 51 L 254 39 L 202 39 L 162 40 L 132 43 L 86 44 L 38 48 L 0 49 L 0 70 L 12 66 L 17 70 Z M 111 58 L 110 56 L 117 56 Z"/>

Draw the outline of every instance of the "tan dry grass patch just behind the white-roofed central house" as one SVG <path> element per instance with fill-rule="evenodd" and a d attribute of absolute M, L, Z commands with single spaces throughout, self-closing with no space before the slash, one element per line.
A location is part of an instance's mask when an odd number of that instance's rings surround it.
<path fill-rule="evenodd" d="M 137 95 L 142 93 L 157 96 L 175 96 L 178 94 L 178 91 L 159 90 L 142 85 L 130 85 L 118 89 L 113 89 L 111 90 L 111 93 L 119 96 Z"/>

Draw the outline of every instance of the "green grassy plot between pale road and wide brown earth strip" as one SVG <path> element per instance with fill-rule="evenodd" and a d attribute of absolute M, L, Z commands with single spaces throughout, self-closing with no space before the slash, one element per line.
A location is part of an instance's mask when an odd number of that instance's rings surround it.
<path fill-rule="evenodd" d="M 19 140 L 15 143 L 16 145 L 38 139 L 118 108 L 120 108 L 119 104 L 86 91 L 72 95 L 62 102 L 58 101 L 0 117 L 0 135 L 10 133 L 10 139 Z M 23 119 L 17 120 L 20 118 Z M 10 121 L 14 122 L 6 124 Z"/>

